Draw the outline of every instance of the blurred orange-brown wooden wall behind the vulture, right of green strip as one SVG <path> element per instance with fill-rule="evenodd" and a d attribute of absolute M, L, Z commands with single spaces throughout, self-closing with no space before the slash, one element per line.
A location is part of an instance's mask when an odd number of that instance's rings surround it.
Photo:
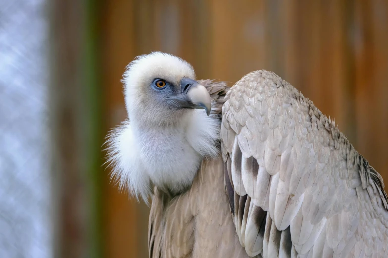
<path fill-rule="evenodd" d="M 126 118 L 125 66 L 159 50 L 230 86 L 250 71 L 274 71 L 335 118 L 388 182 L 388 1 L 89 0 L 86 9 L 101 135 Z M 120 193 L 108 172 L 98 188 L 100 256 L 147 257 L 148 208 Z"/>

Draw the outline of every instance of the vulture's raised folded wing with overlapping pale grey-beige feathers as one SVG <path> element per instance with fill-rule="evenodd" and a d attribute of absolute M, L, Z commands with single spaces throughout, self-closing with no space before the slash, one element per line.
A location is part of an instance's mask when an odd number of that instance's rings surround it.
<path fill-rule="evenodd" d="M 387 257 L 383 180 L 330 119 L 267 71 L 225 100 L 225 189 L 249 256 Z"/>

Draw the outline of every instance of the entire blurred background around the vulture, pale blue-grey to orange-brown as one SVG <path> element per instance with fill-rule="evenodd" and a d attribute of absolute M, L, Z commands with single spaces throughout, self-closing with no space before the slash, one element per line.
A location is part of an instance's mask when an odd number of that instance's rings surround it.
<path fill-rule="evenodd" d="M 101 146 L 153 50 L 230 86 L 274 71 L 388 182 L 387 0 L 0 0 L 1 258 L 148 257 L 148 208 Z"/>

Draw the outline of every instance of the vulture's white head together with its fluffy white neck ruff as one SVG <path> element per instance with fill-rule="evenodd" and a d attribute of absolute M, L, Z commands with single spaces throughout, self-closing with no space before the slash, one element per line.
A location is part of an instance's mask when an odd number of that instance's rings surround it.
<path fill-rule="evenodd" d="M 204 157 L 218 155 L 220 120 L 193 67 L 161 52 L 132 61 L 123 76 L 128 119 L 107 141 L 112 176 L 145 201 L 153 186 L 187 189 Z"/>

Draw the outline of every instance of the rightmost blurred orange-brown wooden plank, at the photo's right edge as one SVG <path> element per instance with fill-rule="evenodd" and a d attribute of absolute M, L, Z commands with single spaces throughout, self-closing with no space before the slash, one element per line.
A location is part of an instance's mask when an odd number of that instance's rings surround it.
<path fill-rule="evenodd" d="M 355 3 L 357 149 L 388 180 L 388 7 Z"/>

